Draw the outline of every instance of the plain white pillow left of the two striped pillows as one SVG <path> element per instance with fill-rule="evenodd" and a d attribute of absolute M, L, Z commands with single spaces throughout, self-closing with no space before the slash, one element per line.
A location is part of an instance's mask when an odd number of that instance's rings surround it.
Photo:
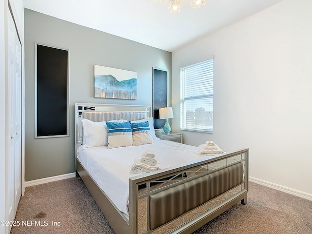
<path fill-rule="evenodd" d="M 96 146 L 107 146 L 107 126 L 105 121 L 93 122 L 82 119 L 83 127 L 83 149 Z"/>

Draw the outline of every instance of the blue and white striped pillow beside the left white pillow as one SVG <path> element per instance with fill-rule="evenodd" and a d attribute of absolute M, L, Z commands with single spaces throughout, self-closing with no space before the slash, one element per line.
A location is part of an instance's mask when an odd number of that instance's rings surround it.
<path fill-rule="evenodd" d="M 107 121 L 106 125 L 108 128 L 108 149 L 132 145 L 132 131 L 129 121 L 124 123 Z"/>

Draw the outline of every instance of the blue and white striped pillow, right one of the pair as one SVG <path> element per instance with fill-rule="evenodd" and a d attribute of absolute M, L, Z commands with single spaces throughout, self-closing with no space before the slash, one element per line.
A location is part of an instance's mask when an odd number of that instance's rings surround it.
<path fill-rule="evenodd" d="M 153 143 L 148 122 L 131 123 L 133 145 Z"/>

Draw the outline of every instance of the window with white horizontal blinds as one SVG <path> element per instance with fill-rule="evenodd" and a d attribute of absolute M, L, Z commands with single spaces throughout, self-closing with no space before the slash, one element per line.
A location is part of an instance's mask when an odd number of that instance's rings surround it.
<path fill-rule="evenodd" d="M 180 69 L 180 129 L 213 132 L 214 60 Z"/>

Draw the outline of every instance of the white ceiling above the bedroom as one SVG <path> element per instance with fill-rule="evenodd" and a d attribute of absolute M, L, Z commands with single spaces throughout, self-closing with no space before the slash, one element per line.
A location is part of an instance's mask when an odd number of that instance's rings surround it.
<path fill-rule="evenodd" d="M 249 17 L 282 0 L 206 0 L 192 8 L 180 0 L 181 11 L 168 11 L 157 0 L 23 0 L 24 7 L 173 52 L 193 39 Z"/>

